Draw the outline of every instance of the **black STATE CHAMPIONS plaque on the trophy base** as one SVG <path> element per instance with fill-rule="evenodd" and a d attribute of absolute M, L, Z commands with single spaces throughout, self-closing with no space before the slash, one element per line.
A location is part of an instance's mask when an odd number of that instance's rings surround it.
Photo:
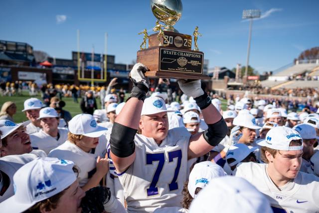
<path fill-rule="evenodd" d="M 202 74 L 203 53 L 160 49 L 160 71 Z"/>

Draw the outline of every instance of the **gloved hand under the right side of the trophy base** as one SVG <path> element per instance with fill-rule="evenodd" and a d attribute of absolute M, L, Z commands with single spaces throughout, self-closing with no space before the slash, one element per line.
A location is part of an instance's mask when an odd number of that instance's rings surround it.
<path fill-rule="evenodd" d="M 177 83 L 179 85 L 180 90 L 187 96 L 197 98 L 204 94 L 204 91 L 200 87 L 200 80 L 189 81 L 184 79 L 178 79 Z"/>

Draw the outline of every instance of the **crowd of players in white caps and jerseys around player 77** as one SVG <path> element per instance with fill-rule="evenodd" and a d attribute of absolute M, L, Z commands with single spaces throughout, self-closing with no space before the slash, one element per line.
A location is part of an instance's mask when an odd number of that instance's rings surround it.
<path fill-rule="evenodd" d="M 242 98 L 223 111 L 199 80 L 178 80 L 183 101 L 168 104 L 146 70 L 93 115 L 65 122 L 29 98 L 28 121 L 0 120 L 1 212 L 319 212 L 318 105 Z"/>

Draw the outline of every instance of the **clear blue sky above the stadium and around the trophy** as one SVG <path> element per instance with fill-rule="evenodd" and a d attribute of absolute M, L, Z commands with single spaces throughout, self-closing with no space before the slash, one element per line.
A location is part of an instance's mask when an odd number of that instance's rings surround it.
<path fill-rule="evenodd" d="M 209 67 L 246 64 L 249 22 L 243 9 L 260 9 L 254 20 L 250 65 L 260 72 L 291 63 L 301 51 L 319 45 L 318 0 L 182 0 L 175 28 L 192 34 L 199 26 L 198 46 Z M 57 58 L 77 50 L 104 50 L 117 63 L 131 63 L 142 42 L 138 32 L 155 25 L 149 0 L 1 0 L 0 39 L 27 42 Z M 149 31 L 149 34 L 152 34 Z"/>

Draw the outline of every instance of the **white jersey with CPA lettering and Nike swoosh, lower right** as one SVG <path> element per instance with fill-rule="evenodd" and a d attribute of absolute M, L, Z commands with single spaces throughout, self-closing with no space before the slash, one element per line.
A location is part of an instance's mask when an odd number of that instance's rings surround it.
<path fill-rule="evenodd" d="M 294 181 L 278 188 L 266 172 L 268 164 L 241 163 L 234 171 L 266 195 L 274 213 L 319 213 L 319 178 L 299 172 Z"/>

